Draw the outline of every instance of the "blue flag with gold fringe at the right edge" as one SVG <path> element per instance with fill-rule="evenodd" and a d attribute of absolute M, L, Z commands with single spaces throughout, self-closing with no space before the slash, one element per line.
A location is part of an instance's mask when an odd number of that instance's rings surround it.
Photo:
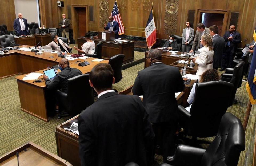
<path fill-rule="evenodd" d="M 256 27 L 253 32 L 253 39 L 256 41 Z M 251 104 L 256 104 L 256 50 L 253 51 L 252 56 L 246 90 L 248 92 Z"/>

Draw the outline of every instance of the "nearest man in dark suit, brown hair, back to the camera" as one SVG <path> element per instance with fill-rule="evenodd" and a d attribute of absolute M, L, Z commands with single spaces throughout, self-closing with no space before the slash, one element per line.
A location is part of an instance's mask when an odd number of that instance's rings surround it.
<path fill-rule="evenodd" d="M 139 96 L 112 90 L 115 78 L 109 64 L 97 64 L 89 77 L 98 100 L 78 118 L 81 165 L 152 165 L 154 133 Z"/>

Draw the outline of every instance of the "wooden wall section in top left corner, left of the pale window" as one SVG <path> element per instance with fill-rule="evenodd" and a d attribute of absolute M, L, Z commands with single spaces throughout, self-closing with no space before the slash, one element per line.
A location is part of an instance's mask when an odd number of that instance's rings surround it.
<path fill-rule="evenodd" d="M 14 0 L 0 0 L 0 25 L 5 24 L 8 31 L 13 30 L 13 20 L 16 18 Z"/>

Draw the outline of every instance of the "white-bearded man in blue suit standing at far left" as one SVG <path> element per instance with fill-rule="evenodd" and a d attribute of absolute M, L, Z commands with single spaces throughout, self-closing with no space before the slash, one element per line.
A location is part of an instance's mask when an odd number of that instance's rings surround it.
<path fill-rule="evenodd" d="M 18 13 L 18 17 L 13 22 L 13 29 L 16 31 L 17 35 L 28 35 L 29 25 L 27 19 L 23 18 L 22 13 Z"/>

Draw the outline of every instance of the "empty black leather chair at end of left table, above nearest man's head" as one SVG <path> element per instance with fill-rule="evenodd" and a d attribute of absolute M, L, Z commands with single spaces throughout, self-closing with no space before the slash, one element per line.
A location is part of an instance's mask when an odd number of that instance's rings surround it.
<path fill-rule="evenodd" d="M 123 58 L 125 55 L 118 54 L 109 58 L 109 64 L 111 65 L 114 71 L 115 83 L 118 83 L 123 78 L 122 76 L 122 65 L 123 65 Z"/>

